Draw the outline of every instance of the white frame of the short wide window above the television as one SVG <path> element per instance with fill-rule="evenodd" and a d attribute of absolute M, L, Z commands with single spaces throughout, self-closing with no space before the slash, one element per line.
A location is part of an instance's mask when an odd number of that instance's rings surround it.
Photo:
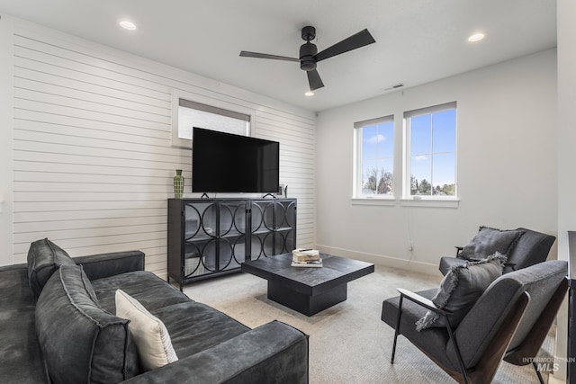
<path fill-rule="evenodd" d="M 256 121 L 256 112 L 253 109 L 243 107 L 235 103 L 228 103 L 222 100 L 203 96 L 201 94 L 184 93 L 178 90 L 172 91 L 172 124 L 170 127 L 171 146 L 192 150 L 192 139 L 180 138 L 178 136 L 178 109 L 184 103 L 191 108 L 220 114 L 222 116 L 238 118 L 245 120 L 247 116 L 247 137 L 252 137 L 254 133 L 254 121 Z M 202 127 L 201 127 L 202 128 Z"/>

